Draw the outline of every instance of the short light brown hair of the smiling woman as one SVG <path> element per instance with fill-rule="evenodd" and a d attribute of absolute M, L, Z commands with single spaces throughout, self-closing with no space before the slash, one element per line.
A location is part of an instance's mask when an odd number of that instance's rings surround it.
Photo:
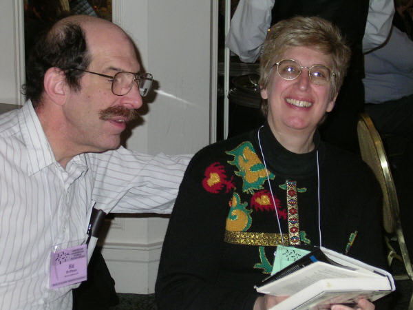
<path fill-rule="evenodd" d="M 320 17 L 293 17 L 279 21 L 268 30 L 260 58 L 260 87 L 266 88 L 271 69 L 281 60 L 283 54 L 289 48 L 298 46 L 331 56 L 331 69 L 335 75 L 332 79 L 330 99 L 334 98 L 346 76 L 351 52 L 339 28 Z M 266 103 L 262 109 L 266 114 Z"/>

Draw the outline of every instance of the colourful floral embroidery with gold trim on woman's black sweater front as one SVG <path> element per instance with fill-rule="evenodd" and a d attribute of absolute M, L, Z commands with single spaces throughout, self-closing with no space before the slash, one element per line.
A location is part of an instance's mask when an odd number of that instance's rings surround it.
<path fill-rule="evenodd" d="M 282 206 L 282 201 L 275 195 L 271 197 L 271 192 L 264 188 L 264 185 L 268 183 L 268 170 L 266 170 L 264 164 L 255 153 L 251 142 L 243 142 L 231 151 L 225 153 L 233 156 L 233 160 L 227 161 L 227 163 L 234 166 L 234 170 L 220 162 L 212 163 L 204 171 L 202 187 L 212 194 L 232 192 L 228 203 L 229 213 L 226 216 L 225 229 L 228 233 L 239 232 L 240 234 L 248 234 L 235 238 L 235 241 L 233 241 L 235 244 L 245 245 L 245 243 L 242 243 L 241 240 L 238 239 L 242 239 L 242 241 L 245 242 L 244 239 L 246 237 L 252 238 L 254 236 L 255 242 L 253 242 L 253 245 L 258 247 L 260 262 L 255 263 L 253 268 L 262 269 L 262 273 L 271 273 L 273 266 L 268 258 L 266 258 L 266 245 L 257 244 L 257 240 L 260 239 L 260 234 L 271 236 L 271 238 L 277 238 L 279 234 L 248 231 L 253 223 L 253 212 L 272 212 L 274 216 L 276 216 L 275 210 L 277 210 L 279 219 L 286 220 L 288 223 L 288 234 L 286 234 L 286 236 L 288 236 L 288 238 L 286 238 L 286 240 L 288 240 L 287 244 L 297 245 L 300 241 L 304 244 L 310 244 L 311 242 L 306 237 L 306 232 L 300 231 L 299 229 L 297 203 L 297 194 L 306 193 L 307 188 L 297 187 L 295 180 L 286 180 L 286 183 L 278 185 L 279 188 L 286 191 L 286 206 Z M 268 171 L 268 177 L 270 180 L 274 180 L 275 174 Z M 236 186 L 235 184 L 238 182 L 242 182 L 242 192 L 237 193 L 235 190 L 237 190 L 240 185 Z M 270 185 L 268 184 L 268 186 Z"/>

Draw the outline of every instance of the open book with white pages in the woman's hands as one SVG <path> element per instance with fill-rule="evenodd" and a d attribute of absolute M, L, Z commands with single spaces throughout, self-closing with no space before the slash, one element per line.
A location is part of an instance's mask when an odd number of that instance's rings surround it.
<path fill-rule="evenodd" d="M 359 260 L 320 247 L 255 287 L 258 292 L 290 296 L 271 310 L 330 309 L 352 306 L 360 298 L 377 300 L 394 291 L 392 275 Z"/>

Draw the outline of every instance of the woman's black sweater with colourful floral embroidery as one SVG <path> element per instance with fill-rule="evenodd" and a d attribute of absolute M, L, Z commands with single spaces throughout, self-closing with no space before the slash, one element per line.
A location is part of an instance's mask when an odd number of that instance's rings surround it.
<path fill-rule="evenodd" d="M 195 154 L 162 249 L 158 309 L 253 309 L 254 285 L 271 273 L 282 242 L 277 218 L 284 244 L 319 245 L 321 223 L 324 247 L 385 266 L 374 176 L 318 134 L 315 145 L 307 154 L 289 152 L 264 125 Z"/>

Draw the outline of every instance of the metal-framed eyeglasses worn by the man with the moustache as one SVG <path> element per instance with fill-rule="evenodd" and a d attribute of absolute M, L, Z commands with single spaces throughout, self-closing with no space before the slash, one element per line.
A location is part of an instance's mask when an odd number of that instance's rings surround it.
<path fill-rule="evenodd" d="M 101 74 L 97 72 L 81 70 L 78 68 L 72 68 L 71 70 L 78 70 L 87 73 L 96 74 L 98 76 L 103 76 L 107 79 L 112 80 L 112 92 L 116 96 L 123 96 L 131 91 L 134 86 L 134 82 L 138 84 L 140 96 L 145 97 L 152 87 L 153 76 L 150 73 L 134 73 L 134 72 L 118 72 L 114 76 Z"/>

